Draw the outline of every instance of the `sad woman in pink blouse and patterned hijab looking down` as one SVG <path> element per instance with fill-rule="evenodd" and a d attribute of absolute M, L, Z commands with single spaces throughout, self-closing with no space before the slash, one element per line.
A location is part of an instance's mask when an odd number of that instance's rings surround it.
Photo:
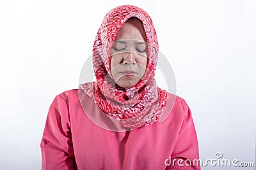
<path fill-rule="evenodd" d="M 191 111 L 156 86 L 157 57 L 145 11 L 131 5 L 109 11 L 93 45 L 97 81 L 51 104 L 42 169 L 200 169 L 191 164 L 198 159 Z"/>

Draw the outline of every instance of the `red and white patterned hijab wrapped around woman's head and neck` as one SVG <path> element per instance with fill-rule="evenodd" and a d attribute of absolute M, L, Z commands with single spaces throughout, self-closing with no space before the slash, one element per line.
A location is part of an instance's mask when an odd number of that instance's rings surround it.
<path fill-rule="evenodd" d="M 116 85 L 111 76 L 110 53 L 117 32 L 131 17 L 141 20 L 147 36 L 148 62 L 141 80 L 130 88 Z M 156 85 L 154 78 L 158 57 L 158 43 L 152 19 L 146 11 L 132 5 L 110 10 L 97 32 L 93 45 L 93 71 L 97 81 L 79 85 L 109 117 L 124 127 L 136 129 L 159 120 L 164 111 L 168 92 Z"/>

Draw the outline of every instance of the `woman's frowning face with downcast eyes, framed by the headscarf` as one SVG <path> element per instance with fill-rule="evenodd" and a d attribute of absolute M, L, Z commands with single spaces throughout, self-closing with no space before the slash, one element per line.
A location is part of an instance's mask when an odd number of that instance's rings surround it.
<path fill-rule="evenodd" d="M 129 88 L 143 77 L 147 66 L 147 37 L 139 19 L 127 20 L 111 48 L 111 74 L 120 87 Z"/>

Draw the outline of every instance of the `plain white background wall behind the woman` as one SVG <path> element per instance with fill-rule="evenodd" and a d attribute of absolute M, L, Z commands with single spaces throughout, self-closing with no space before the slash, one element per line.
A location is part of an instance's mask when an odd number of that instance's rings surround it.
<path fill-rule="evenodd" d="M 13 0 L 0 2 L 0 169 L 41 168 L 49 106 L 77 89 L 104 15 L 122 4 L 152 17 L 193 113 L 200 158 L 254 162 L 256 1 Z"/>

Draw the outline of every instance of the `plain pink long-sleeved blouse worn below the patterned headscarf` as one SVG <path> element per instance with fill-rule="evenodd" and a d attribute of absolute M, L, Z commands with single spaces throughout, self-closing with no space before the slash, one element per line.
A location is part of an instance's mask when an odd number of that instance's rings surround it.
<path fill-rule="evenodd" d="M 100 118 L 97 104 L 83 97 L 86 111 Z M 40 146 L 42 169 L 200 169 L 191 111 L 179 96 L 164 122 L 113 132 L 94 124 L 78 90 L 68 90 L 52 102 Z"/>

